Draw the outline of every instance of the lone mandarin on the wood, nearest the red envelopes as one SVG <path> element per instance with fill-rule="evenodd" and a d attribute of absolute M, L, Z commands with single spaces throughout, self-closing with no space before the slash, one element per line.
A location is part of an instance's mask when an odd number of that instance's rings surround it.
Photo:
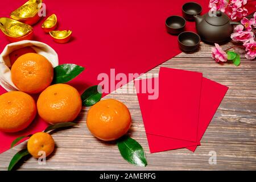
<path fill-rule="evenodd" d="M 118 139 L 130 129 L 130 111 L 117 100 L 102 100 L 88 111 L 87 126 L 98 139 L 106 141 Z"/>

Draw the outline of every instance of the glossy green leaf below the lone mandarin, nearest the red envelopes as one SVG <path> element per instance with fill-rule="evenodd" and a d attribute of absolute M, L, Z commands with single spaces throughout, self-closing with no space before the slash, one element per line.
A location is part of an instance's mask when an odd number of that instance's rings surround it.
<path fill-rule="evenodd" d="M 127 160 L 127 162 L 137 166 L 147 166 L 143 148 L 136 140 L 125 136 L 117 141 L 117 146 L 123 159 Z"/>

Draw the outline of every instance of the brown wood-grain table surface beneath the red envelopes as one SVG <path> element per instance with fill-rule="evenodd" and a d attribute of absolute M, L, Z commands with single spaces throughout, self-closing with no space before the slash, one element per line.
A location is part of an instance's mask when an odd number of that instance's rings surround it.
<path fill-rule="evenodd" d="M 224 49 L 232 47 L 225 44 Z M 229 86 L 222 104 L 214 115 L 201 146 L 193 153 L 186 149 L 150 154 L 144 131 L 141 110 L 133 82 L 127 84 L 133 93 L 109 94 L 105 98 L 115 98 L 129 107 L 133 125 L 129 135 L 144 148 L 148 166 L 137 167 L 127 163 L 119 154 L 115 143 L 101 142 L 94 138 L 86 127 L 86 113 L 83 108 L 78 118 L 79 126 L 53 133 L 56 150 L 46 164 L 37 160 L 26 160 L 22 170 L 234 170 L 256 169 L 256 61 L 244 59 L 241 65 L 217 64 L 210 58 L 210 48 L 201 43 L 199 51 L 193 54 L 181 53 L 159 67 L 198 71 L 204 77 Z M 171 50 L 170 50 L 171 51 Z M 243 53 L 243 51 L 238 50 Z M 159 67 L 148 73 L 158 73 Z M 143 75 L 142 77 L 144 77 Z M 15 152 L 26 142 L 0 155 L 0 170 L 6 170 Z M 209 152 L 217 154 L 217 164 L 209 164 Z"/>

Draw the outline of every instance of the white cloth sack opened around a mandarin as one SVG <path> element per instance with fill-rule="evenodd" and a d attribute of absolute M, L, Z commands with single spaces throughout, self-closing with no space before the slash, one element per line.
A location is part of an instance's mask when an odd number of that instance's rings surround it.
<path fill-rule="evenodd" d="M 51 62 L 53 68 L 59 65 L 57 53 L 47 44 L 32 40 L 22 40 L 8 44 L 0 55 L 0 85 L 8 92 L 18 90 L 18 88 L 13 84 L 13 81 L 11 81 L 11 63 L 9 54 L 23 47 L 31 47 L 36 53 L 46 57 L 46 59 Z"/>

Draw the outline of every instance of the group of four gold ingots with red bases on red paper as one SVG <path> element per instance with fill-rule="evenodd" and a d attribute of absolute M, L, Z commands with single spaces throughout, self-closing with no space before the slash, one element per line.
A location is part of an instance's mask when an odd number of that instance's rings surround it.
<path fill-rule="evenodd" d="M 10 42 L 31 40 L 32 25 L 40 20 L 39 11 L 42 0 L 29 0 L 10 13 L 10 18 L 0 18 L 0 29 Z M 52 14 L 42 24 L 44 32 L 49 33 L 57 43 L 67 43 L 72 35 L 71 30 L 54 31 L 57 27 L 57 16 Z"/>

